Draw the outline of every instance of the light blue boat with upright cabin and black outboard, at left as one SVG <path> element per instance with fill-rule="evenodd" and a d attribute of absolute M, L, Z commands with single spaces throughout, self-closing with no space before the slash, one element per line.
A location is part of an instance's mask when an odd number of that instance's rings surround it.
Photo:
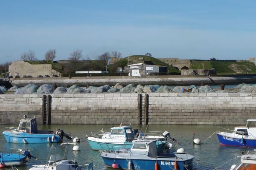
<path fill-rule="evenodd" d="M 61 142 L 63 136 L 67 139 L 72 139 L 72 136 L 64 133 L 63 130 L 38 130 L 36 118 L 27 118 L 25 114 L 24 119 L 20 120 L 17 129 L 3 131 L 3 135 L 7 142 L 10 143 L 55 143 Z"/>

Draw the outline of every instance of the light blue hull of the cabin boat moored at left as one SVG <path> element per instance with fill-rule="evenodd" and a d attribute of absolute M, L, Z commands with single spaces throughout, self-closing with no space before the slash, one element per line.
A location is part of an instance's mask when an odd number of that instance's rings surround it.
<path fill-rule="evenodd" d="M 52 141 L 53 134 L 36 134 L 36 133 L 23 133 L 23 132 L 14 133 L 14 132 L 4 131 L 3 135 L 6 139 L 6 142 L 10 142 L 10 143 L 29 144 L 29 143 L 55 143 L 55 142 L 62 141 L 59 135 L 54 135 L 54 139 Z"/>

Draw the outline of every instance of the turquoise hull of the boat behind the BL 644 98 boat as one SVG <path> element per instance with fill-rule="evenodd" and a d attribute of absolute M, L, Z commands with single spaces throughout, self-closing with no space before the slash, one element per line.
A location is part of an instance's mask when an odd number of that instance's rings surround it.
<path fill-rule="evenodd" d="M 132 147 L 132 142 L 99 142 L 98 140 L 95 141 L 96 138 L 89 137 L 87 141 L 90 144 L 90 147 L 93 150 L 117 150 L 122 147 L 124 148 L 131 148 Z M 166 144 L 166 141 L 157 141 L 157 150 L 162 151 L 163 150 L 163 145 Z"/>

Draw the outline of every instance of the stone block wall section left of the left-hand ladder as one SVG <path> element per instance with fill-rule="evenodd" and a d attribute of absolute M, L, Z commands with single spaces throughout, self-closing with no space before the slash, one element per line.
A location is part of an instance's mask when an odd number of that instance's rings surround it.
<path fill-rule="evenodd" d="M 42 95 L 37 94 L 1 94 L 0 124 L 17 124 L 26 113 L 35 116 L 42 123 Z"/>

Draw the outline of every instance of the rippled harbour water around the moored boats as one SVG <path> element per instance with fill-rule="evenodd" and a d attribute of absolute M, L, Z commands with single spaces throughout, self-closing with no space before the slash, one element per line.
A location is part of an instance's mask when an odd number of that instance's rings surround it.
<path fill-rule="evenodd" d="M 0 130 L 7 130 L 5 127 L 13 127 L 15 125 L 1 125 Z M 17 126 L 17 125 L 16 125 Z M 38 125 L 38 129 L 43 130 L 58 130 L 62 129 L 65 133 L 71 133 L 73 137 L 84 138 L 86 135 L 90 135 L 90 132 L 99 132 L 102 128 L 105 131 L 110 131 L 110 128 L 116 125 Z M 137 126 L 131 125 L 133 128 L 138 128 L 140 130 L 145 130 L 146 126 Z M 221 126 L 227 129 L 233 129 L 234 126 Z M 213 170 L 216 167 L 224 164 L 225 162 L 235 158 L 236 156 L 241 156 L 241 152 L 246 153 L 248 150 L 253 150 L 254 148 L 245 148 L 245 147 L 229 147 L 221 146 L 218 142 L 216 134 L 207 139 L 212 133 L 219 130 L 218 126 L 213 125 L 148 125 L 147 131 L 164 131 L 167 130 L 170 132 L 171 137 L 177 140 L 178 147 L 183 147 L 185 152 L 190 153 L 195 156 L 194 167 L 197 170 Z M 195 133 L 195 138 L 199 138 L 202 141 L 207 139 L 201 145 L 193 144 L 193 133 Z M 70 142 L 64 138 L 64 142 Z M 31 155 L 37 156 L 39 160 L 31 159 L 30 163 L 40 163 L 46 161 L 49 149 L 52 146 L 59 145 L 60 143 L 55 144 L 13 144 L 7 143 L 4 139 L 4 136 L 0 136 L 0 147 L 1 148 L 26 148 L 30 150 Z M 93 161 L 93 164 L 96 165 L 97 170 L 112 170 L 110 167 L 105 167 L 99 151 L 92 150 L 90 145 L 86 140 L 83 140 L 79 143 L 80 151 L 72 151 L 70 149 L 69 159 L 75 159 L 79 164 L 88 164 Z M 71 147 L 70 147 L 71 148 Z M 240 158 L 233 159 L 232 161 L 224 164 L 218 170 L 230 170 L 230 167 L 233 164 L 238 164 Z M 5 167 L 3 170 L 11 170 L 11 167 Z M 27 170 L 29 166 L 19 167 L 19 170 Z"/>

